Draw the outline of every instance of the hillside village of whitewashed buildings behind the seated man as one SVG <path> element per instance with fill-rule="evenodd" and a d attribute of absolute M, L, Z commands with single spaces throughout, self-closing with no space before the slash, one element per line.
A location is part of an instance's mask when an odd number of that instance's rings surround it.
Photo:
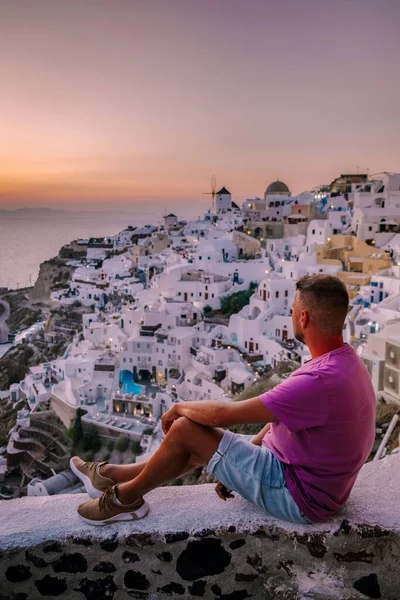
<path fill-rule="evenodd" d="M 168 214 L 76 240 L 62 260 L 47 321 L 29 338 L 56 350 L 0 392 L 3 498 L 79 492 L 73 448 L 87 460 L 145 460 L 172 403 L 232 402 L 287 377 L 310 359 L 291 319 L 305 274 L 346 284 L 344 339 L 377 396 L 375 458 L 397 451 L 399 174 L 343 174 L 297 196 L 275 181 L 241 207 L 223 187 L 198 220 Z"/>

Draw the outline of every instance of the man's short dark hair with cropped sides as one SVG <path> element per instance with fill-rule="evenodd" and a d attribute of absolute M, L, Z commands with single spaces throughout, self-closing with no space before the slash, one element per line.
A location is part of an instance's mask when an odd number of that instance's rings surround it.
<path fill-rule="evenodd" d="M 332 275 L 305 275 L 296 289 L 310 321 L 327 335 L 340 335 L 349 308 L 345 284 Z"/>

